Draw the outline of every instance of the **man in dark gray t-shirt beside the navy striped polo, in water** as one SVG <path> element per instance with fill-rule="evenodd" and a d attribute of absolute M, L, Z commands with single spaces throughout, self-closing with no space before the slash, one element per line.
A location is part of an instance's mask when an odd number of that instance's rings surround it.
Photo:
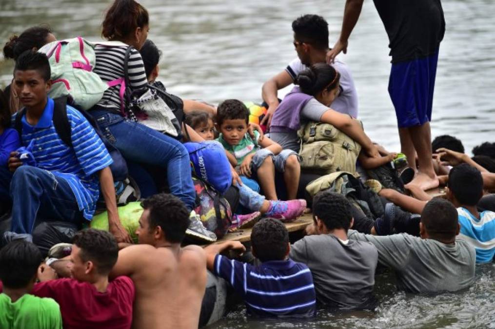
<path fill-rule="evenodd" d="M 374 308 L 372 295 L 377 250 L 369 242 L 347 239 L 352 225 L 350 203 L 323 191 L 313 200 L 310 234 L 291 247 L 289 257 L 306 264 L 313 275 L 316 299 L 330 307 Z"/>

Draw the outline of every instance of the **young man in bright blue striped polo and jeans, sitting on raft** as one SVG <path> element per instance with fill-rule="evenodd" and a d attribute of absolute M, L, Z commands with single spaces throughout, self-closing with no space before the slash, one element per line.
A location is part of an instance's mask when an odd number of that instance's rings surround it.
<path fill-rule="evenodd" d="M 110 232 L 119 242 L 130 242 L 118 218 L 109 168 L 112 159 L 90 123 L 70 106 L 66 111 L 72 147 L 59 138 L 53 125 L 55 104 L 47 96 L 49 79 L 45 54 L 28 51 L 19 56 L 13 88 L 26 109 L 21 118 L 25 148 L 12 152 L 9 159 L 9 169 L 14 172 L 10 182 L 11 230 L 31 234 L 35 224 L 43 221 L 80 225 L 83 218 L 91 220 L 101 187 Z M 9 182 L 4 177 L 5 169 L 0 169 L 0 188 L 8 191 Z"/>

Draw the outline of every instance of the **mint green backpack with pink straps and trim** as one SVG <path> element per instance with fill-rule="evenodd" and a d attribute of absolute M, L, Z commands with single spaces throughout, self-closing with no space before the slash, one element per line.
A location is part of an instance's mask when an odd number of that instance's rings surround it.
<path fill-rule="evenodd" d="M 81 37 L 54 41 L 39 49 L 48 56 L 52 80 L 49 97 L 67 96 L 74 105 L 90 109 L 109 87 L 93 72 L 95 44 Z"/>

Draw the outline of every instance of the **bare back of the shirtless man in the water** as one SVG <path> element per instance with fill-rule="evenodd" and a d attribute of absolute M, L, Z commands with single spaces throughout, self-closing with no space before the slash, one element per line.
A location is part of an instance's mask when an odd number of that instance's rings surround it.
<path fill-rule="evenodd" d="M 134 262 L 131 279 L 136 286 L 134 328 L 197 328 L 206 285 L 206 258 L 198 246 L 179 249 L 151 245 L 127 247 L 121 262 Z"/>

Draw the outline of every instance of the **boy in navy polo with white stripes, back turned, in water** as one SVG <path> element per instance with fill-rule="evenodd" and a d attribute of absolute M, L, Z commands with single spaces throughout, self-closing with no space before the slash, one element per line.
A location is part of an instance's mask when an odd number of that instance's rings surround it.
<path fill-rule="evenodd" d="M 316 296 L 308 267 L 288 258 L 289 233 L 276 219 L 262 219 L 251 231 L 251 252 L 261 261 L 253 266 L 220 255 L 228 250 L 245 251 L 239 241 L 207 246 L 207 266 L 240 294 L 250 315 L 262 317 L 314 315 Z"/>

